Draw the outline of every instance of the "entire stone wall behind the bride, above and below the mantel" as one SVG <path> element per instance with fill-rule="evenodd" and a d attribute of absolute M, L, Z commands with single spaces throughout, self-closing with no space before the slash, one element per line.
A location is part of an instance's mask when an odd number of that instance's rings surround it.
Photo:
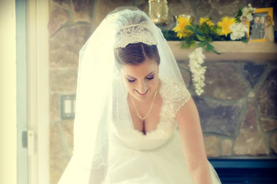
<path fill-rule="evenodd" d="M 177 1 L 169 2 L 173 16 L 191 14 L 234 16 L 238 7 L 276 7 L 274 1 Z M 117 7 L 136 6 L 148 12 L 144 0 L 50 0 L 50 179 L 57 183 L 73 150 L 73 119 L 61 119 L 61 95 L 75 95 L 79 50 L 105 16 Z M 274 13 L 276 20 L 276 13 Z M 197 21 L 196 21 L 197 22 Z M 276 25 L 275 25 L 276 26 Z M 182 76 L 199 110 L 207 157 L 276 158 L 276 63 L 267 61 L 205 62 L 206 86 L 195 95 L 188 63 L 178 61 Z"/>

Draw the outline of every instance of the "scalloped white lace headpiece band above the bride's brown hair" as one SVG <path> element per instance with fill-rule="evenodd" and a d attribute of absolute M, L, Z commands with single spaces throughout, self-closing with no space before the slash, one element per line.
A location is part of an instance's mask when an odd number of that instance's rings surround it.
<path fill-rule="evenodd" d="M 116 35 L 114 48 L 126 47 L 129 43 L 145 43 L 158 45 L 154 35 L 141 24 L 123 26 Z"/>

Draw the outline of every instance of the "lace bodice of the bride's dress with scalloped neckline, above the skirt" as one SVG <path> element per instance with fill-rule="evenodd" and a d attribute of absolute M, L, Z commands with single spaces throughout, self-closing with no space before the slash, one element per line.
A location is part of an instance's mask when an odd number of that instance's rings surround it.
<path fill-rule="evenodd" d="M 179 81 L 165 76 L 160 76 L 160 79 L 162 86 L 159 92 L 163 99 L 163 105 L 157 128 L 144 135 L 143 132 L 134 129 L 128 106 L 120 106 L 119 103 L 115 103 L 113 105 L 113 112 L 117 113 L 113 114 L 111 126 L 112 143 L 127 146 L 135 150 L 151 151 L 157 150 L 158 147 L 166 145 L 171 140 L 174 130 L 177 128 L 175 116 L 181 106 L 190 99 L 191 94 Z M 115 82 L 120 83 L 120 81 Z M 113 93 L 115 93 L 114 96 L 122 98 L 118 99 L 118 101 L 124 101 L 127 98 L 128 91 L 123 87 L 118 88 Z M 117 123 L 124 124 L 124 128 L 120 126 L 121 128 L 118 129 Z"/>

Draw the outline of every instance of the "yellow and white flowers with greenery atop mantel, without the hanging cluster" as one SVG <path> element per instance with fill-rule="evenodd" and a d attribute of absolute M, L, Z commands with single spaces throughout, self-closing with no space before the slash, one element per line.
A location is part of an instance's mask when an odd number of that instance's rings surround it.
<path fill-rule="evenodd" d="M 212 41 L 230 41 L 238 40 L 248 42 L 246 32 L 248 28 L 241 24 L 242 18 L 245 16 L 247 21 L 253 19 L 252 14 L 255 13 L 256 8 L 251 4 L 247 7 L 240 7 L 236 16 L 230 18 L 228 16 L 221 18 L 216 25 L 212 22 L 212 18 L 200 18 L 199 24 L 193 24 L 187 18 L 177 18 L 178 26 L 173 28 L 177 38 L 172 38 L 173 34 L 169 31 L 164 31 L 165 37 L 171 37 L 167 40 L 180 40 L 181 48 L 191 48 L 195 46 L 196 41 L 199 41 L 197 46 L 205 47 L 206 51 L 214 51 L 218 53 L 209 43 Z M 176 35 L 175 35 L 176 36 Z"/>

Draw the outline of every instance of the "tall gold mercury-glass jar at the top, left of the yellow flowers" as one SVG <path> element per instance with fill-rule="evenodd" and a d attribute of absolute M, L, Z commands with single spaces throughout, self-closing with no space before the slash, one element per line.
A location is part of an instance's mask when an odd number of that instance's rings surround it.
<path fill-rule="evenodd" d="M 149 18 L 156 25 L 168 23 L 168 1 L 167 0 L 149 0 Z"/>

